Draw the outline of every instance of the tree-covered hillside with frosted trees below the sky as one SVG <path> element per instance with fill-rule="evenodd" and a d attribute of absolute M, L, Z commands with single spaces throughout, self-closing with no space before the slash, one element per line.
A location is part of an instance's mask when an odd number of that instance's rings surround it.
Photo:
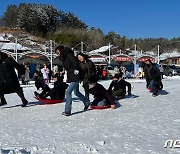
<path fill-rule="evenodd" d="M 111 43 L 117 50 L 126 50 L 137 45 L 137 50 L 152 51 L 158 45 L 160 52 L 180 51 L 180 38 L 137 38 L 131 39 L 110 31 L 103 34 L 100 28 L 88 27 L 72 12 L 57 10 L 52 5 L 21 3 L 9 5 L 2 17 L 0 26 L 20 29 L 30 34 L 54 40 L 57 43 L 76 46 L 84 42 L 87 51 Z M 80 47 L 79 47 L 80 48 Z"/>

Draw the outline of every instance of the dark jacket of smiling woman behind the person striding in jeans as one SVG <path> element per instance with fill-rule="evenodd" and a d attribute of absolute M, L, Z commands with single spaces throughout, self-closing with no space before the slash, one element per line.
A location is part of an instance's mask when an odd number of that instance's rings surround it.
<path fill-rule="evenodd" d="M 95 65 L 91 60 L 80 62 L 79 64 L 83 73 L 83 84 L 88 84 L 88 79 L 92 76 L 96 76 Z"/>

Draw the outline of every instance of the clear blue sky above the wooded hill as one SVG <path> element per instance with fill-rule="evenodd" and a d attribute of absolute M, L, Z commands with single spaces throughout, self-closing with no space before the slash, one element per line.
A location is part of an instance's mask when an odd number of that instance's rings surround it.
<path fill-rule="evenodd" d="M 180 37 L 180 0 L 0 0 L 0 16 L 10 4 L 51 4 L 74 13 L 104 34 L 127 38 Z"/>

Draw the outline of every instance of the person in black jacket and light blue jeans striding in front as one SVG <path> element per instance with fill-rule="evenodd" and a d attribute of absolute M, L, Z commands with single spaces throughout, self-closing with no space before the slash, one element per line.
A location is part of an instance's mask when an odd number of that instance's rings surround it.
<path fill-rule="evenodd" d="M 62 114 L 65 116 L 71 115 L 72 91 L 74 91 L 74 94 L 84 103 L 84 110 L 87 110 L 90 101 L 79 92 L 79 83 L 82 80 L 82 73 L 78 59 L 74 56 L 74 52 L 69 47 L 58 46 L 55 49 L 55 52 L 59 56 L 59 59 L 62 61 L 63 67 L 67 72 L 67 82 L 69 83 L 65 93 L 65 111 Z"/>

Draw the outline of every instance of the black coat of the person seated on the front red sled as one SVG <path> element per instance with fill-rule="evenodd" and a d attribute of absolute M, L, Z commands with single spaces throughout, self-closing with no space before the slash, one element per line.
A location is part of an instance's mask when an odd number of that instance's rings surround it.
<path fill-rule="evenodd" d="M 107 103 L 114 105 L 111 94 L 99 83 L 96 83 L 95 87 L 89 89 L 89 93 L 94 95 L 95 99 L 99 101 L 106 100 Z"/>

